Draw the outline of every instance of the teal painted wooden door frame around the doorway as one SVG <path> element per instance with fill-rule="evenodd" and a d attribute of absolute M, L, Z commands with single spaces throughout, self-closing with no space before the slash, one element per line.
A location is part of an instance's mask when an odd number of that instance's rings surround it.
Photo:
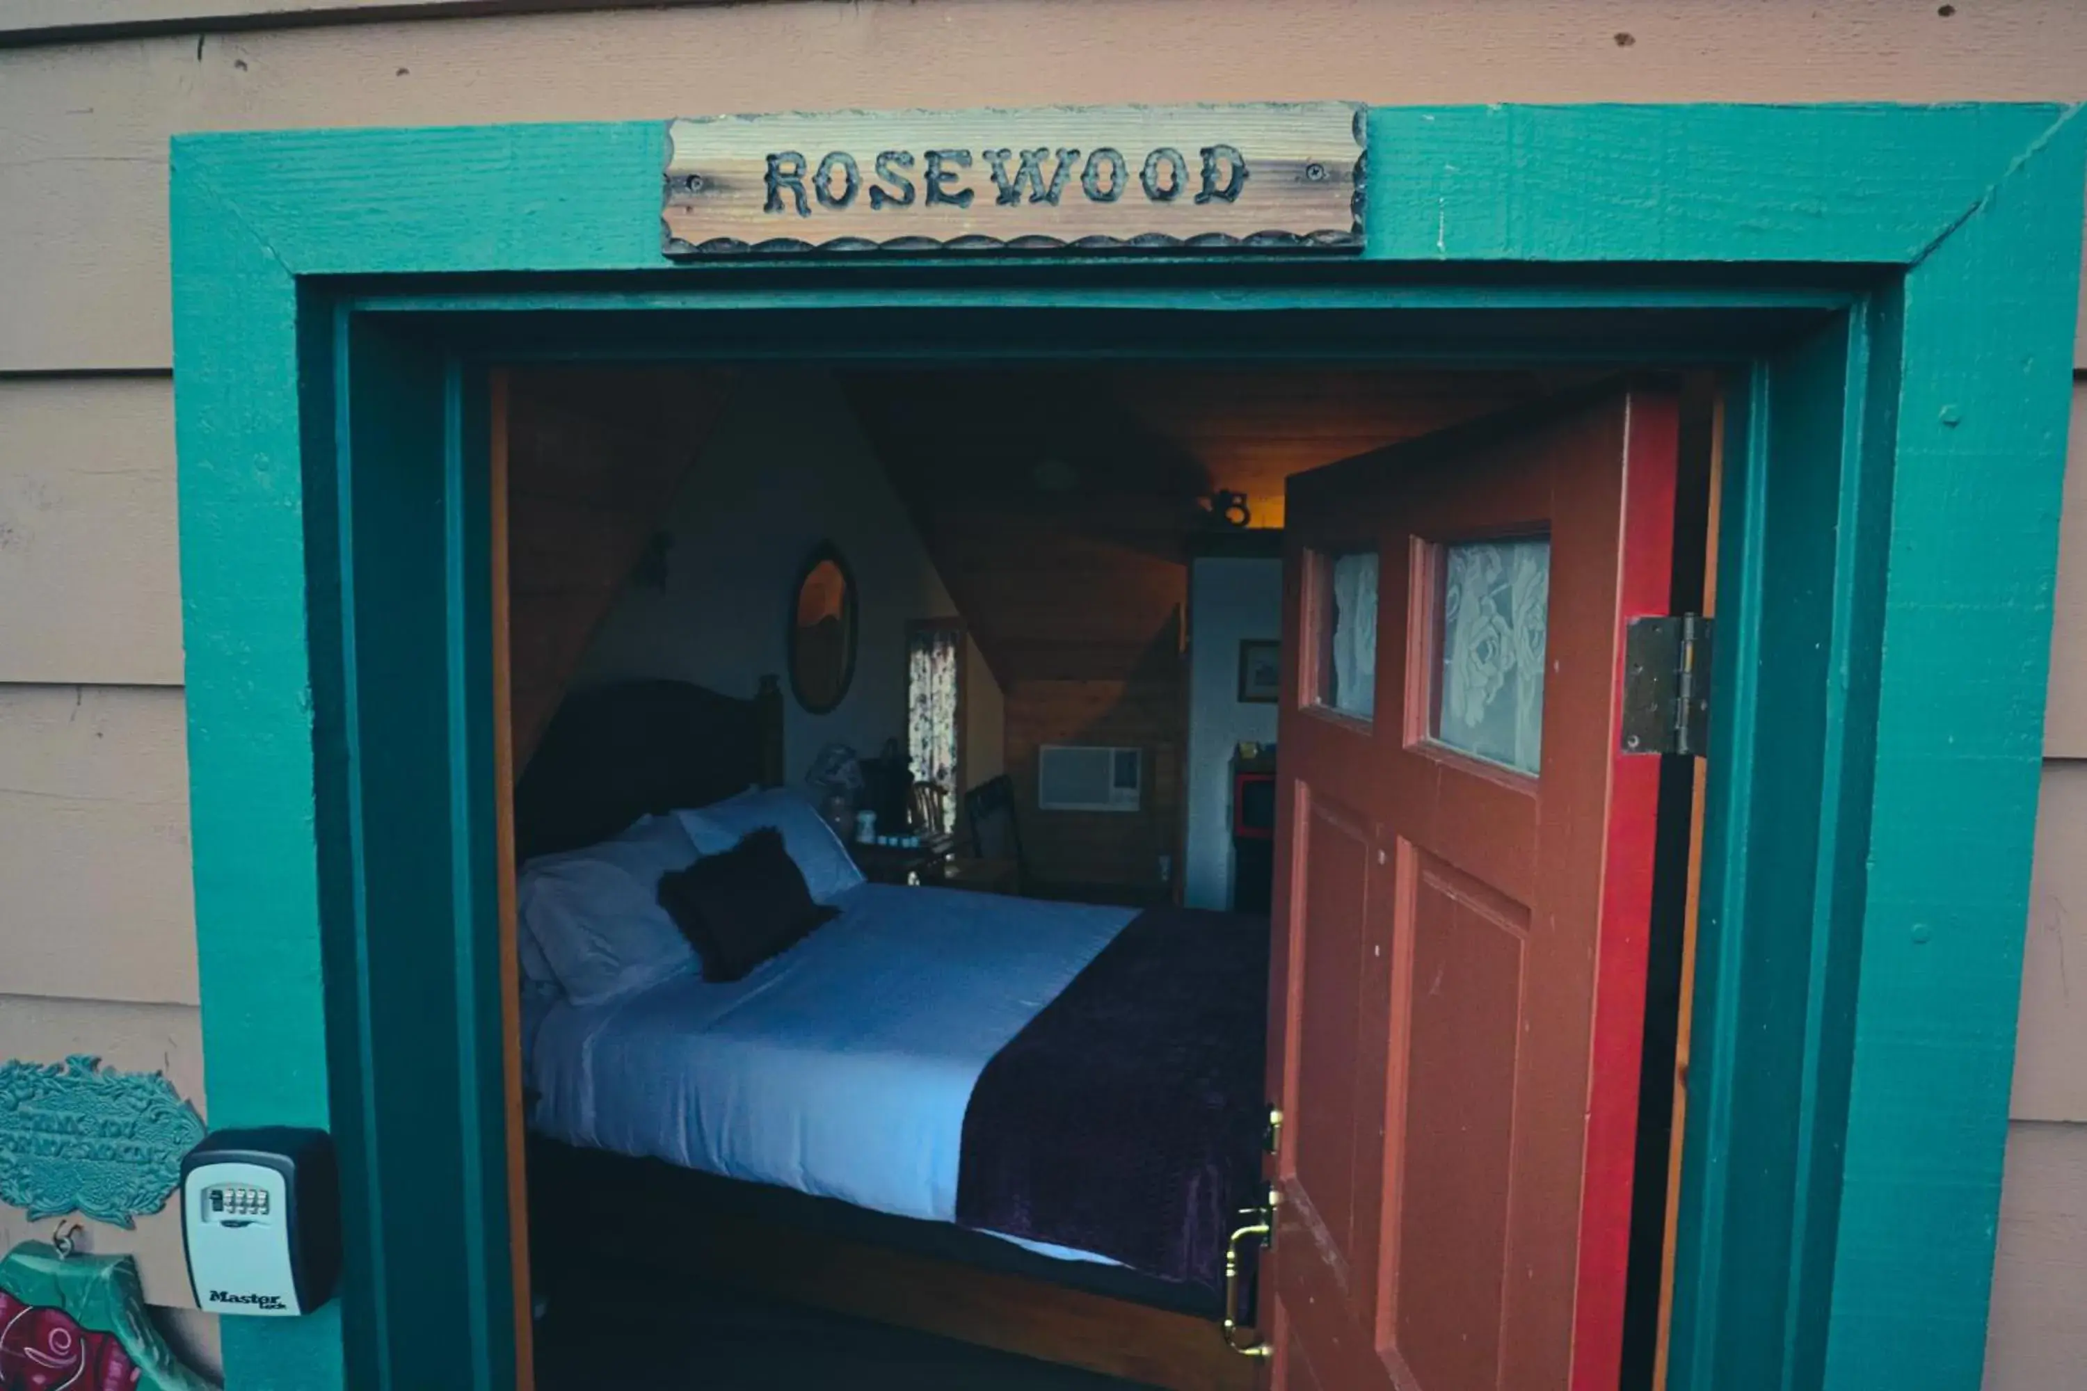
<path fill-rule="evenodd" d="M 2072 108 L 1382 108 L 1365 257 L 1296 265 L 666 267 L 662 142 L 175 142 L 211 1120 L 330 1126 L 351 1247 L 328 1310 L 225 1320 L 236 1391 L 511 1378 L 482 386 L 609 355 L 1724 363 L 1672 1385 L 1978 1385 Z"/>

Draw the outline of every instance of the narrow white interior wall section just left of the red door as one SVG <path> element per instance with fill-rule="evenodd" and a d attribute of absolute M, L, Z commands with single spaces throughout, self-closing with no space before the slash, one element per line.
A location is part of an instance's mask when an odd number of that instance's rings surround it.
<path fill-rule="evenodd" d="M 1231 749 L 1275 738 L 1275 707 L 1240 701 L 1240 640 L 1281 636 L 1284 563 L 1204 557 L 1188 578 L 1188 838 L 1183 901 L 1231 901 Z"/>

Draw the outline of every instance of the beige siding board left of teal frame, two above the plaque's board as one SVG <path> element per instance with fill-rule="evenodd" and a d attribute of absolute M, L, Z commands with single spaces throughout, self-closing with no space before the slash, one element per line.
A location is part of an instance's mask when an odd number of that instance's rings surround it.
<path fill-rule="evenodd" d="M 173 386 L 0 380 L 0 682 L 182 684 Z"/>

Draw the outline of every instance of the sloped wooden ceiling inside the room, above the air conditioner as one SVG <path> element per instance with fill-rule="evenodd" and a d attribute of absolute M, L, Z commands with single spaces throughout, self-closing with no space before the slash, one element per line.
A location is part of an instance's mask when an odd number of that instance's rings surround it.
<path fill-rule="evenodd" d="M 1536 373 L 851 371 L 847 396 L 1008 686 L 1171 659 L 1213 490 L 1281 526 L 1284 480 L 1526 402 Z"/>

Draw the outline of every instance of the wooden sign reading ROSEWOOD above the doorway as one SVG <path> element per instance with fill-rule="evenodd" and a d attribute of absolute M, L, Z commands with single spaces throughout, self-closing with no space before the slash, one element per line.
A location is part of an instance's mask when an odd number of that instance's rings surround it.
<path fill-rule="evenodd" d="M 1039 106 L 668 125 L 668 257 L 1363 246 L 1363 108 Z"/>

